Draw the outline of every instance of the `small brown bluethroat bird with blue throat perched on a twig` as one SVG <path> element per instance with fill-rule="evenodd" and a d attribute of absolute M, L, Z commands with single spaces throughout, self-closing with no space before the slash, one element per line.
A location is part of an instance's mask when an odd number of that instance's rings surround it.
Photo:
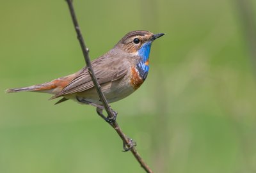
<path fill-rule="evenodd" d="M 108 103 L 129 96 L 141 86 L 148 75 L 151 44 L 163 35 L 149 31 L 131 31 L 113 49 L 92 61 L 93 71 Z M 56 104 L 70 99 L 93 105 L 97 107 L 98 114 L 104 109 L 86 67 L 51 82 L 6 90 L 7 93 L 19 91 L 54 94 L 51 99 L 62 97 Z"/>

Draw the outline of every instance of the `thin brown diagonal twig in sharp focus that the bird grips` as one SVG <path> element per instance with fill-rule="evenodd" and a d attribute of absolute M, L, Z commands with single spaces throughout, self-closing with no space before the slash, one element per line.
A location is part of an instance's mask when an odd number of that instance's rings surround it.
<path fill-rule="evenodd" d="M 114 111 L 110 108 L 106 97 L 104 96 L 104 94 L 101 91 L 99 82 L 97 81 L 97 78 L 95 77 L 95 74 L 93 72 L 92 69 L 92 64 L 90 62 L 90 57 L 89 57 L 89 49 L 86 47 L 84 40 L 83 40 L 83 36 L 80 30 L 80 27 L 78 25 L 77 19 L 76 19 L 76 14 L 74 11 L 74 7 L 72 4 L 72 0 L 66 0 L 68 3 L 68 8 L 70 10 L 70 14 L 72 16 L 72 20 L 73 20 L 73 24 L 74 27 L 76 29 L 76 33 L 77 33 L 77 39 L 79 40 L 79 43 L 81 45 L 81 49 L 83 51 L 83 56 L 84 56 L 84 60 L 86 62 L 86 66 L 88 68 L 88 71 L 90 73 L 90 76 L 92 78 L 93 84 L 95 86 L 95 89 L 97 90 L 97 93 L 99 94 L 99 98 L 100 101 L 102 102 L 102 105 L 104 106 L 106 112 L 108 113 L 108 117 L 114 117 L 115 113 Z M 132 140 L 129 139 L 121 130 L 120 126 L 118 125 L 118 123 L 116 121 L 113 121 L 111 123 L 109 123 L 118 133 L 119 137 L 123 140 L 124 142 L 124 146 L 126 146 L 134 155 L 134 157 L 136 158 L 136 160 L 140 163 L 141 167 L 143 167 L 143 169 L 148 172 L 148 173 L 153 173 L 153 171 L 150 169 L 150 167 L 148 167 L 148 165 L 144 162 L 144 160 L 141 158 L 140 154 L 136 151 L 136 148 L 134 147 L 134 144 L 132 143 Z"/>

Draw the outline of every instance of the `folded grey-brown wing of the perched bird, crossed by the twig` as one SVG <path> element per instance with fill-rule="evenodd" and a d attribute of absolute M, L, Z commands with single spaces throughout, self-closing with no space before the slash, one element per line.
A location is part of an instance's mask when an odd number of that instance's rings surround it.
<path fill-rule="evenodd" d="M 121 79 L 127 74 L 127 68 L 125 68 L 124 61 L 120 61 L 119 58 L 106 59 L 106 57 L 100 57 L 92 62 L 95 76 L 98 79 L 99 84 L 104 84 L 114 80 Z M 77 76 L 66 86 L 60 93 L 56 94 L 52 98 L 58 98 L 66 94 L 72 94 L 77 92 L 83 92 L 94 87 L 90 74 L 87 68 L 83 68 Z"/>

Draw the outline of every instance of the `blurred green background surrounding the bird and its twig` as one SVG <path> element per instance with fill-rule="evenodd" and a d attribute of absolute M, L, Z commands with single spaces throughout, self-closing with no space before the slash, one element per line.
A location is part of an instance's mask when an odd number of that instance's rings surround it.
<path fill-rule="evenodd" d="M 75 0 L 90 57 L 125 33 L 165 33 L 150 73 L 113 103 L 156 172 L 256 172 L 256 1 Z M 84 66 L 65 1 L 1 1 L 0 172 L 144 172 L 95 109 L 6 94 Z"/>

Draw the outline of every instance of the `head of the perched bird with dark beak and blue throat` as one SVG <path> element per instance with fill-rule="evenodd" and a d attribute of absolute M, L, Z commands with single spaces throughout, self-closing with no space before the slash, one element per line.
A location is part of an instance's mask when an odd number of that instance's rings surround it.
<path fill-rule="evenodd" d="M 116 47 L 124 52 L 138 54 L 147 60 L 152 42 L 163 35 L 163 33 L 153 34 L 150 31 L 131 31 L 118 41 Z"/>

